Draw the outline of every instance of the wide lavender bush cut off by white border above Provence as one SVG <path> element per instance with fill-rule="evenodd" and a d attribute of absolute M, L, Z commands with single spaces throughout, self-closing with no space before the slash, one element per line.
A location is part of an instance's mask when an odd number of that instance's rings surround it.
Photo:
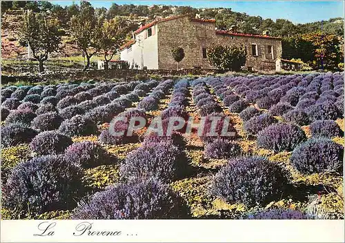
<path fill-rule="evenodd" d="M 115 184 L 80 202 L 73 220 L 164 220 L 186 218 L 181 197 L 161 182 L 149 179 Z"/>

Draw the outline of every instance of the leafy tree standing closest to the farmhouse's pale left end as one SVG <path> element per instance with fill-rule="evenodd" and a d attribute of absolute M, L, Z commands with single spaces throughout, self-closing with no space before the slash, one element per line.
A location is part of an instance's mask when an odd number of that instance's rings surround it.
<path fill-rule="evenodd" d="M 101 39 L 99 40 L 101 49 L 104 51 L 104 69 L 108 70 L 108 63 L 117 53 L 124 43 L 128 33 L 128 23 L 126 19 L 115 17 L 103 22 L 101 28 Z"/>

